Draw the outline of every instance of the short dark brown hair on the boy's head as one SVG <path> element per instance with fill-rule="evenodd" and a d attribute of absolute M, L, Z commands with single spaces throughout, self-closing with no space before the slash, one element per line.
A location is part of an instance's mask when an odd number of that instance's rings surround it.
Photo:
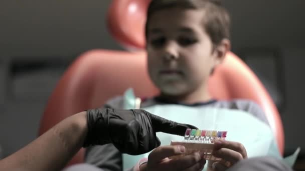
<path fill-rule="evenodd" d="M 213 44 L 218 45 L 224 38 L 230 39 L 230 16 L 221 5 L 220 0 L 151 0 L 145 24 L 146 38 L 150 16 L 158 10 L 172 7 L 204 9 L 205 20 L 203 25 Z"/>

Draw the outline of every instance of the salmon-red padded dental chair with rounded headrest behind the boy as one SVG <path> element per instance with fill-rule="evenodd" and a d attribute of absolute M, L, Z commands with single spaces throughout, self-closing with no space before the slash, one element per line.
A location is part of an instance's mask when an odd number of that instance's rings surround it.
<path fill-rule="evenodd" d="M 149 0 L 112 0 L 108 27 L 127 48 L 143 48 L 143 24 Z M 146 71 L 145 51 L 96 49 L 85 52 L 66 70 L 47 103 L 41 120 L 42 134 L 62 119 L 104 102 L 133 87 L 137 96 L 153 96 L 158 89 Z M 209 80 L 209 90 L 218 99 L 247 98 L 266 113 L 281 152 L 284 133 L 279 113 L 262 83 L 237 56 L 229 52 Z M 81 149 L 68 165 L 83 162 Z"/>

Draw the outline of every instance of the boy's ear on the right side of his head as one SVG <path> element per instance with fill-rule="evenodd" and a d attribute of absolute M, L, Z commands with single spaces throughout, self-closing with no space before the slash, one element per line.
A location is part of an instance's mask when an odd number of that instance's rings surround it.
<path fill-rule="evenodd" d="M 215 65 L 220 64 L 223 59 L 225 58 L 227 52 L 231 49 L 231 42 L 229 39 L 224 38 L 221 40 L 221 42 L 216 46 L 215 52 L 216 52 L 216 62 Z"/>

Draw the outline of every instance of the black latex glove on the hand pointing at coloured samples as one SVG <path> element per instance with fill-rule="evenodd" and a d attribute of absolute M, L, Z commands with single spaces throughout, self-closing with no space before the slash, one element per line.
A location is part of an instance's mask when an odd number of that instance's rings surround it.
<path fill-rule="evenodd" d="M 156 132 L 184 136 L 189 124 L 177 123 L 142 109 L 95 108 L 87 110 L 88 134 L 84 147 L 113 143 L 122 153 L 137 155 L 160 146 Z"/>

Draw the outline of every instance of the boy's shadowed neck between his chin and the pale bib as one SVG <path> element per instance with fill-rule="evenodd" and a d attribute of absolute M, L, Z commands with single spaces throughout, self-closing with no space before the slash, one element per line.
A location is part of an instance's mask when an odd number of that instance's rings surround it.
<path fill-rule="evenodd" d="M 184 104 L 193 104 L 197 102 L 205 102 L 211 100 L 211 96 L 207 89 L 201 91 L 194 91 L 188 94 L 182 95 L 168 95 L 165 93 L 160 94 L 160 98 L 169 102 L 179 102 Z"/>

